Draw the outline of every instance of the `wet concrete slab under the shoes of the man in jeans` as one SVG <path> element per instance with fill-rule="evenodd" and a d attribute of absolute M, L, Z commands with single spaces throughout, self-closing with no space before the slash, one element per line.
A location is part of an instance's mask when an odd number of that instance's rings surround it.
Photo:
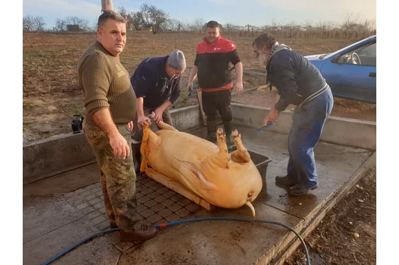
<path fill-rule="evenodd" d="M 259 202 L 303 218 L 306 222 L 313 218 L 337 189 L 345 184 L 356 169 L 371 156 L 371 152 L 365 149 L 319 142 L 314 150 L 319 188 L 310 191 L 306 196 L 296 198 L 288 195 L 286 187 L 277 187 L 274 181 L 275 176 L 286 173 L 289 160 L 288 136 L 268 131 L 257 133 L 245 127 L 237 129 L 246 136 L 244 145 L 248 149 L 263 153 L 273 160 L 273 163 L 268 165 L 267 171 L 268 194 L 260 196 Z"/>

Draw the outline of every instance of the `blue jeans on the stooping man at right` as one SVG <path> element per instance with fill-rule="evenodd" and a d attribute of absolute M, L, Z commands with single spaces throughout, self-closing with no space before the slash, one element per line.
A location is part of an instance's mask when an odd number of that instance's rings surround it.
<path fill-rule="evenodd" d="M 334 98 L 331 89 L 296 107 L 288 136 L 288 178 L 294 182 L 314 187 L 318 184 L 313 149 L 321 138 L 325 120 L 330 116 Z"/>

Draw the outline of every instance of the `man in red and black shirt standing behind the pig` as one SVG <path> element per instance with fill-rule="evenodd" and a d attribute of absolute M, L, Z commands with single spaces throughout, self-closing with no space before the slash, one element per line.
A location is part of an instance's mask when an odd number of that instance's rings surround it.
<path fill-rule="evenodd" d="M 237 93 L 243 91 L 242 63 L 233 41 L 220 36 L 219 23 L 209 21 L 206 24 L 206 36 L 197 45 L 193 69 L 188 78 L 188 89 L 192 89 L 193 81 L 198 76 L 198 85 L 202 91 L 202 107 L 206 114 L 208 136 L 206 140 L 216 141 L 216 110 L 219 112 L 227 145 L 234 145 L 231 138 L 233 130 L 233 114 L 230 109 L 233 80 L 228 64 L 235 66 Z"/>

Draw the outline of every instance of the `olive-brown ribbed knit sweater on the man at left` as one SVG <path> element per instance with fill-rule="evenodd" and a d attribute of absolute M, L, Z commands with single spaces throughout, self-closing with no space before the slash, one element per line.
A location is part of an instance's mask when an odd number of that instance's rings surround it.
<path fill-rule="evenodd" d="M 95 125 L 92 115 L 109 108 L 116 125 L 127 124 L 136 115 L 136 94 L 129 73 L 119 56 L 110 54 L 96 41 L 83 52 L 78 61 L 78 82 L 85 96 L 86 122 Z"/>

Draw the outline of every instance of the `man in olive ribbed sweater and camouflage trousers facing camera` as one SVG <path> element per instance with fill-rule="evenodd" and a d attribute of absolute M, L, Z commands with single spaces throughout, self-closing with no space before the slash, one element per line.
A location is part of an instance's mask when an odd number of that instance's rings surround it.
<path fill-rule="evenodd" d="M 147 240 L 157 233 L 141 224 L 136 202 L 136 173 L 131 155 L 136 94 L 119 54 L 126 43 L 126 21 L 116 12 L 98 18 L 97 41 L 78 61 L 78 82 L 84 95 L 83 131 L 93 150 L 111 228 L 120 240 Z"/>

